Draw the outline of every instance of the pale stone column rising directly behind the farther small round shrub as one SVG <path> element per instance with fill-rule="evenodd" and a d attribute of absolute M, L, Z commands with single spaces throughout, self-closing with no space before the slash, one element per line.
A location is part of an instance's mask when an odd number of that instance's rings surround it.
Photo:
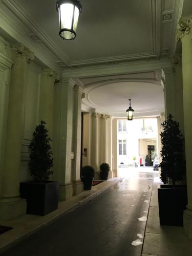
<path fill-rule="evenodd" d="M 100 164 L 108 162 L 108 116 L 101 115 L 101 136 L 100 136 Z"/>

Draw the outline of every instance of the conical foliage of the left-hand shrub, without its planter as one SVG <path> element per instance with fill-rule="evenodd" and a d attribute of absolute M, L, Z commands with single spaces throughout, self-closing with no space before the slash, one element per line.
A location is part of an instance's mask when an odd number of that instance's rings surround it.
<path fill-rule="evenodd" d="M 53 173 L 53 158 L 46 122 L 41 121 L 36 126 L 32 141 L 29 145 L 29 170 L 34 181 L 49 180 Z"/>

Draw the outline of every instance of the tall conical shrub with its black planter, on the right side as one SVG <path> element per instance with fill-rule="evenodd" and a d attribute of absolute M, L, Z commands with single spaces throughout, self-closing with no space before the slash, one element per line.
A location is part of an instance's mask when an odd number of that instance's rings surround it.
<path fill-rule="evenodd" d="M 179 123 L 171 114 L 162 124 L 160 179 L 164 185 L 158 185 L 159 217 L 161 225 L 182 226 L 183 210 L 187 205 L 186 185 L 176 185 L 184 180 L 186 167 L 184 156 L 184 137 Z"/>

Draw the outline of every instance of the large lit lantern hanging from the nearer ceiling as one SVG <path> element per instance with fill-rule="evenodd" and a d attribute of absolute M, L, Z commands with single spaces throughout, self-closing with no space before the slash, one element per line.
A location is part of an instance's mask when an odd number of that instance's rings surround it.
<path fill-rule="evenodd" d="M 59 13 L 60 37 L 67 40 L 75 39 L 81 4 L 78 0 L 58 0 L 56 9 Z"/>

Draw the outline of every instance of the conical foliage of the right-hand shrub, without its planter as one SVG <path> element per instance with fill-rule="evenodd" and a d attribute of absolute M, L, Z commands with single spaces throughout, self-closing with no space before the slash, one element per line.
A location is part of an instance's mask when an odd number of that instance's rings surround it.
<path fill-rule="evenodd" d="M 179 130 L 179 123 L 173 120 L 171 114 L 161 125 L 163 132 L 160 134 L 162 142 L 160 179 L 164 184 L 168 183 L 168 179 L 172 179 L 175 185 L 176 181 L 183 180 L 186 173 L 184 137 Z"/>

